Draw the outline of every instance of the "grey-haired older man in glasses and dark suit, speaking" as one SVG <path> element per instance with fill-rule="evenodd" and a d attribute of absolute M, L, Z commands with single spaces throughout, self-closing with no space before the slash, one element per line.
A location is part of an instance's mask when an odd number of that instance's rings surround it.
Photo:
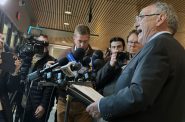
<path fill-rule="evenodd" d="M 171 6 L 156 2 L 142 9 L 135 25 L 143 49 L 121 73 L 115 93 L 86 110 L 112 122 L 181 122 L 185 50 L 173 38 L 177 16 Z"/>

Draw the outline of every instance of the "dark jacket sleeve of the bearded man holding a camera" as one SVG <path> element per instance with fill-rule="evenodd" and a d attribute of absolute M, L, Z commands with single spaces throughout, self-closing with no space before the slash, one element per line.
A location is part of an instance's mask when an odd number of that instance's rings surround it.
<path fill-rule="evenodd" d="M 121 71 L 121 67 L 112 67 L 108 61 L 96 75 L 96 89 L 100 90 L 104 88 L 108 83 L 114 80 L 116 74 Z"/>

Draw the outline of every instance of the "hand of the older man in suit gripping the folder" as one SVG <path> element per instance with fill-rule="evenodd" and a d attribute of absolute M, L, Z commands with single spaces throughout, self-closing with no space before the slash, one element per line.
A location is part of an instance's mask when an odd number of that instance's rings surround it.
<path fill-rule="evenodd" d="M 87 106 L 86 111 L 94 118 L 100 118 L 101 114 L 98 110 L 99 100 Z"/>

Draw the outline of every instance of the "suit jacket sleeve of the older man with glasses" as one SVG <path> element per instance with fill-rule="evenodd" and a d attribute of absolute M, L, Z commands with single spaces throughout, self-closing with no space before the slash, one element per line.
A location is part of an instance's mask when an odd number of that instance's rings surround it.
<path fill-rule="evenodd" d="M 159 96 L 169 72 L 167 51 L 164 46 L 156 45 L 145 52 L 139 57 L 130 85 L 100 100 L 100 112 L 105 120 L 145 110 Z"/>

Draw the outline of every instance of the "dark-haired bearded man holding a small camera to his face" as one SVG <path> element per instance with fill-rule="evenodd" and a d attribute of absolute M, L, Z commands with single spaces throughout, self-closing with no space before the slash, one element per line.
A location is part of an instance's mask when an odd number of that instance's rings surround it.
<path fill-rule="evenodd" d="M 122 71 L 122 67 L 126 65 L 128 54 L 123 52 L 125 42 L 121 37 L 113 37 L 110 40 L 111 56 L 107 63 L 97 72 L 96 89 L 103 89 L 103 95 L 109 96 L 114 91 L 117 77 Z M 112 82 L 109 82 L 112 81 Z"/>

